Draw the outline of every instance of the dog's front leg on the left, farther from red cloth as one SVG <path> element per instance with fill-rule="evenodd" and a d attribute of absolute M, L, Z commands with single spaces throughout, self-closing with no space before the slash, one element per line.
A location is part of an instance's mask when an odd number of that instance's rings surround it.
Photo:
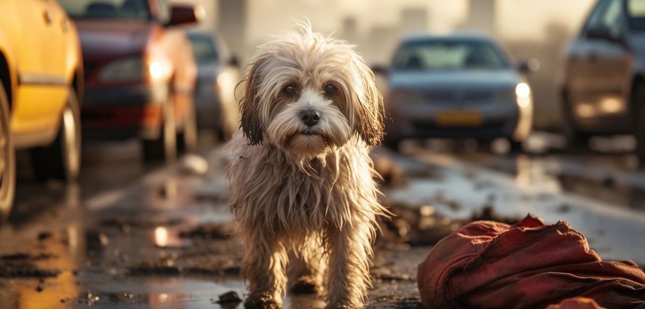
<path fill-rule="evenodd" d="M 281 308 L 288 261 L 283 239 L 258 227 L 246 227 L 242 234 L 244 258 L 241 272 L 249 283 L 244 308 Z"/>

